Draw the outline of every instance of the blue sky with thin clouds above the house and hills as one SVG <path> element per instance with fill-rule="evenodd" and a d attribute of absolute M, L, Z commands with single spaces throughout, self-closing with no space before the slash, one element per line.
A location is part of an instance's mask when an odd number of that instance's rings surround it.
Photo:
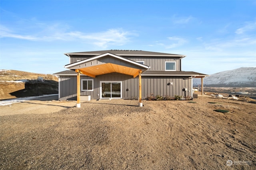
<path fill-rule="evenodd" d="M 64 53 L 186 55 L 182 70 L 256 67 L 256 1 L 1 0 L 0 69 L 53 74 Z"/>

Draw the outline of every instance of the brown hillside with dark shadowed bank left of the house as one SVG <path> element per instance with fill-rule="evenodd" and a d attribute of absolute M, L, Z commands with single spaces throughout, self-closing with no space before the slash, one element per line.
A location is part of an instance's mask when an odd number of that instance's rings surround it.
<path fill-rule="evenodd" d="M 38 77 L 42 77 L 38 81 Z M 0 100 L 58 94 L 58 78 L 18 70 L 0 70 Z"/>

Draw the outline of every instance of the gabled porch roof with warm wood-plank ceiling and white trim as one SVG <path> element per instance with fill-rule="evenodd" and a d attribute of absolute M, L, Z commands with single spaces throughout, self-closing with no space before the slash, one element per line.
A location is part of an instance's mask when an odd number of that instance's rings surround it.
<path fill-rule="evenodd" d="M 135 78 L 138 76 L 139 72 L 144 72 L 150 68 L 144 64 L 125 59 L 112 53 L 94 56 L 89 59 L 68 64 L 64 67 L 70 70 L 80 71 L 82 74 L 94 78 L 98 75 L 108 74 L 111 72 L 128 74 Z"/>

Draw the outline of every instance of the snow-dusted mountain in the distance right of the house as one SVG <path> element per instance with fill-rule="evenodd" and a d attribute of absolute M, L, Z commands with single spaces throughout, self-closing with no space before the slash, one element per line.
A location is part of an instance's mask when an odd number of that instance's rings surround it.
<path fill-rule="evenodd" d="M 194 78 L 193 85 L 198 84 L 201 84 L 201 79 Z M 256 87 L 256 67 L 241 67 L 212 74 L 204 78 L 204 86 Z"/>

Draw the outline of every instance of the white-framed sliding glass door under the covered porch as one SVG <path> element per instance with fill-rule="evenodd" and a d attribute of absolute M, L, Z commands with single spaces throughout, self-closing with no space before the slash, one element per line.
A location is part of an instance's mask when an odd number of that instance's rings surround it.
<path fill-rule="evenodd" d="M 101 81 L 101 98 L 122 98 L 121 82 Z"/>

